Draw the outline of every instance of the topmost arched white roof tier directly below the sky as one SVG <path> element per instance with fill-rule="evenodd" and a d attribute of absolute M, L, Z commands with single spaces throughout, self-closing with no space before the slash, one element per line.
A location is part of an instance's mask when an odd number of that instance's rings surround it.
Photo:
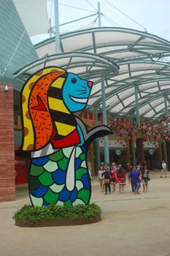
<path fill-rule="evenodd" d="M 39 58 L 55 54 L 55 38 L 35 45 Z M 74 31 L 61 35 L 63 53 L 81 50 L 114 59 L 161 58 L 170 55 L 170 42 L 146 32 L 123 28 L 96 28 Z"/>

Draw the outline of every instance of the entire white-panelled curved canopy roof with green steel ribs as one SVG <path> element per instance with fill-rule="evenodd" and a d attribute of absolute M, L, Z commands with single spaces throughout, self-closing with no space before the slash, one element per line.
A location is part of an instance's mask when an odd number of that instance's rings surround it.
<path fill-rule="evenodd" d="M 15 77 L 19 75 L 25 80 L 37 64 L 38 67 L 55 64 L 93 79 L 88 110 L 95 105 L 101 107 L 101 76 L 105 78 L 107 110 L 112 113 L 122 116 L 135 113 L 135 86 L 140 116 L 162 116 L 165 97 L 170 109 L 170 64 L 163 59 L 170 56 L 170 42 L 165 39 L 132 29 L 98 28 L 61 35 L 61 54 L 55 54 L 55 38 L 35 48 L 40 59 L 21 69 Z"/>

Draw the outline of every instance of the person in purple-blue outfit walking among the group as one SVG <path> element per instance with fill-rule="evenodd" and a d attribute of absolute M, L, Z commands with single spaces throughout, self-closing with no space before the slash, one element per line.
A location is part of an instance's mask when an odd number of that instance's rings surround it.
<path fill-rule="evenodd" d="M 130 182 L 131 182 L 131 186 L 133 187 L 134 193 L 139 195 L 141 175 L 139 171 L 136 170 L 136 166 L 134 166 L 131 172 L 129 173 L 129 183 Z"/>

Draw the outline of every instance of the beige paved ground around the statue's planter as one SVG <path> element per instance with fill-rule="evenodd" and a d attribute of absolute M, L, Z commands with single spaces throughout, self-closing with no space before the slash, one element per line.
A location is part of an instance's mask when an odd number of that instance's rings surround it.
<path fill-rule="evenodd" d="M 29 203 L 26 187 L 17 200 L 0 203 L 1 256 L 170 256 L 170 173 L 152 173 L 149 192 L 133 195 L 100 192 L 92 181 L 92 202 L 101 206 L 101 222 L 71 227 L 17 227 L 12 215 Z M 142 190 L 142 189 L 141 189 Z"/>

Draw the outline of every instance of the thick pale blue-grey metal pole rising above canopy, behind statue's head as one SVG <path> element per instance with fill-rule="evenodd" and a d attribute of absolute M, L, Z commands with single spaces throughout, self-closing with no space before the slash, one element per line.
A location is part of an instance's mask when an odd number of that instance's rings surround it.
<path fill-rule="evenodd" d="M 54 8 L 55 9 L 55 53 L 61 53 L 58 0 L 54 0 L 54 7 L 55 7 Z"/>

